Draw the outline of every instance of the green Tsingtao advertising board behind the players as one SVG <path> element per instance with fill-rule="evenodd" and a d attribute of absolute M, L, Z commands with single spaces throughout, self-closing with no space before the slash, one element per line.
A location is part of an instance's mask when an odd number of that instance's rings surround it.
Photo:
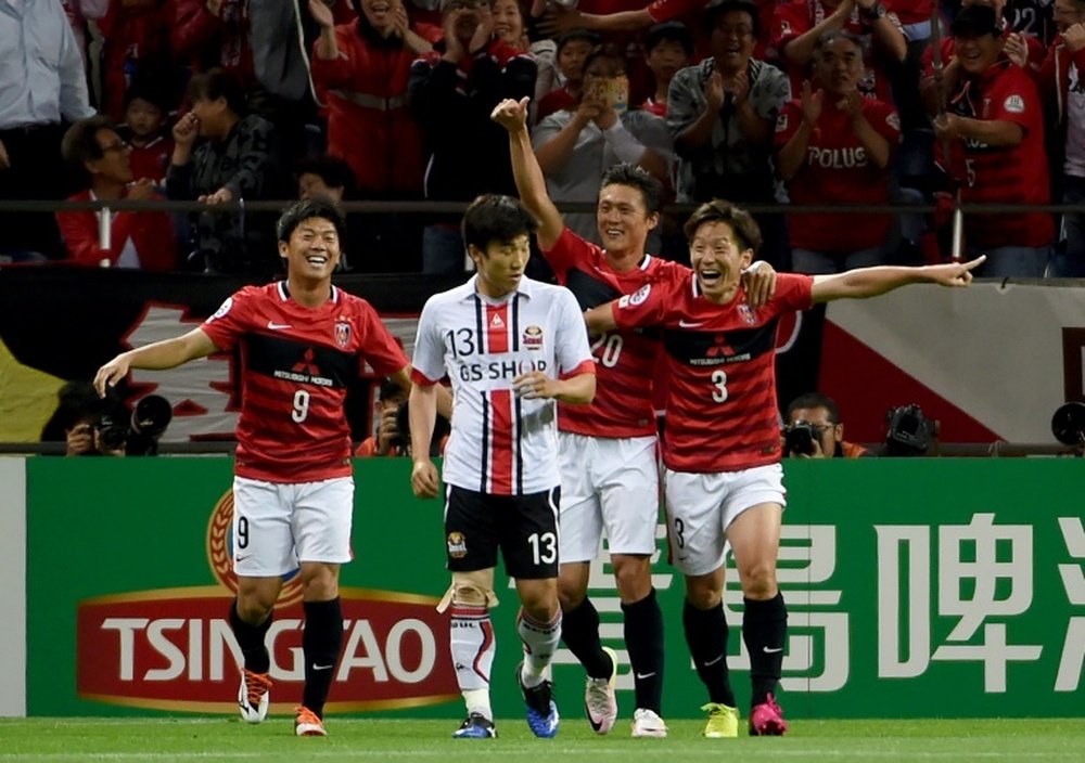
<path fill-rule="evenodd" d="M 1085 714 L 1085 465 L 1080 460 L 861 460 L 787 465 L 780 586 L 789 609 L 789 717 Z M 34 458 L 27 469 L 27 713 L 233 713 L 239 651 L 227 611 L 231 462 Z M 462 716 L 448 625 L 441 504 L 409 490 L 406 460 L 356 465 L 355 560 L 344 567 L 344 656 L 331 712 Z M 704 701 L 681 632 L 682 583 L 654 568 L 666 623 L 666 717 Z M 518 715 L 515 592 L 494 612 L 493 695 Z M 590 595 L 620 655 L 605 554 Z M 301 589 L 269 633 L 273 712 L 301 698 Z M 739 701 L 749 697 L 742 596 L 725 597 Z M 562 650 L 556 690 L 583 715 L 583 670 Z"/>

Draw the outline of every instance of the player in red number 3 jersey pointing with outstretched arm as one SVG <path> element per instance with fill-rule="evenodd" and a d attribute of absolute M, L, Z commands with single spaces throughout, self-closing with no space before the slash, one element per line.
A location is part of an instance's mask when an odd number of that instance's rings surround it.
<path fill-rule="evenodd" d="M 815 302 L 872 297 L 910 283 L 967 286 L 968 263 L 876 267 L 833 275 L 780 274 L 767 305 L 750 305 L 740 274 L 761 244 L 748 212 L 727 202 L 702 205 L 686 224 L 693 270 L 589 310 L 592 334 L 662 332 L 669 376 L 663 463 L 668 538 L 686 577 L 682 624 L 709 689 L 705 736 L 738 734 L 720 606 L 729 544 L 742 584 L 742 636 L 753 682 L 750 733 L 787 730 L 776 703 L 787 610 L 776 559 L 784 490 L 774 371 L 779 316 Z"/>

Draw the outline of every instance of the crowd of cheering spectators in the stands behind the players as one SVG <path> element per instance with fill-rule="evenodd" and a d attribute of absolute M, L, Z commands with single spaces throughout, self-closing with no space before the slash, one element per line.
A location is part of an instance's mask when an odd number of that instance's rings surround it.
<path fill-rule="evenodd" d="M 3 3 L 0 262 L 264 279 L 273 214 L 244 202 L 514 193 L 489 114 L 523 96 L 559 205 L 587 210 L 630 163 L 668 203 L 752 205 L 780 269 L 942 261 L 956 204 L 1082 199 L 1083 22 L 1083 0 Z M 108 231 L 3 211 L 65 197 L 199 209 L 115 212 Z M 787 214 L 885 203 L 940 211 Z M 353 270 L 465 267 L 458 212 L 352 217 Z M 566 221 L 599 243 L 590 215 Z M 649 250 L 688 259 L 682 222 L 672 207 Z M 1082 216 L 967 215 L 954 254 L 980 253 L 980 275 L 1081 276 Z"/>

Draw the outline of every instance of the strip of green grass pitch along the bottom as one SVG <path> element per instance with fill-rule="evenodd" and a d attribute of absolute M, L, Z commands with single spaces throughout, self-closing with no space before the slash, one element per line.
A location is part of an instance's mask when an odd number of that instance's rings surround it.
<path fill-rule="evenodd" d="M 449 721 L 331 716 L 327 739 L 298 739 L 292 720 L 258 726 L 224 719 L 0 720 L 0 762 L 50 761 L 1085 761 L 1085 720 L 795 721 L 782 738 L 703 739 L 702 723 L 671 722 L 667 739 L 631 739 L 628 721 L 597 737 L 583 719 L 535 739 L 523 719 L 499 719 L 499 738 L 451 739 Z"/>

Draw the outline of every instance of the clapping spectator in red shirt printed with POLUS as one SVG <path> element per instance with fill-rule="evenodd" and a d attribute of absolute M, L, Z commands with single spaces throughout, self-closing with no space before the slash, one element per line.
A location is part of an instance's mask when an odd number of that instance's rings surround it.
<path fill-rule="evenodd" d="M 777 171 L 795 204 L 889 202 L 889 166 L 899 141 L 892 105 L 864 98 L 863 41 L 835 29 L 814 49 L 814 79 L 780 113 Z M 884 262 L 888 215 L 794 214 L 789 218 L 796 272 L 842 273 Z"/>

